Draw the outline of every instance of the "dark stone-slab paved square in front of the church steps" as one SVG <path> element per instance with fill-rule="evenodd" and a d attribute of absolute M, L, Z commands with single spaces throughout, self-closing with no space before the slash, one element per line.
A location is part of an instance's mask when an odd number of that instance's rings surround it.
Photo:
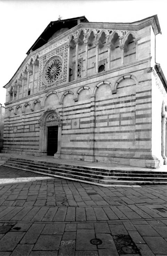
<path fill-rule="evenodd" d="M 167 185 L 103 187 L 0 166 L 0 255 L 167 255 Z"/>

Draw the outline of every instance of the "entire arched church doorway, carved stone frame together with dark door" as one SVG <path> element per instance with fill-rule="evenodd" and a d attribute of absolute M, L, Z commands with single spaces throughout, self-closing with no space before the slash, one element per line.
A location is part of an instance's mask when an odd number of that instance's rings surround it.
<path fill-rule="evenodd" d="M 39 151 L 43 155 L 61 156 L 62 122 L 56 109 L 48 108 L 39 119 Z"/>

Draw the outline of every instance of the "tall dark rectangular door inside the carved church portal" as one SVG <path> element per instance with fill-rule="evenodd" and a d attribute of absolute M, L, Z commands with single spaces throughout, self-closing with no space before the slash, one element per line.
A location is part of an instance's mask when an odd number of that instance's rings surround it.
<path fill-rule="evenodd" d="M 54 156 L 57 152 L 58 125 L 48 126 L 47 155 Z"/>

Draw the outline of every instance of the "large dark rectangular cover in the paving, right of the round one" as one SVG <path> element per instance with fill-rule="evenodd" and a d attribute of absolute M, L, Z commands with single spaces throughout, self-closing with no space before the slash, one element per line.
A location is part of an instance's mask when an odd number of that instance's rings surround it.
<path fill-rule="evenodd" d="M 132 238 L 129 235 L 113 235 L 112 237 L 119 255 L 141 255 L 139 249 L 136 247 L 135 243 L 132 241 Z"/>

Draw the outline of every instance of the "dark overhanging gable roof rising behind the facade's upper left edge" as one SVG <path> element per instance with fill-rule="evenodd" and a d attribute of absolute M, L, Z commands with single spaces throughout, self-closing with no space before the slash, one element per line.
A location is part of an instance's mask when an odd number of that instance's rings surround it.
<path fill-rule="evenodd" d="M 42 32 L 42 34 L 38 37 L 38 39 L 34 42 L 34 44 L 30 47 L 26 54 L 29 54 L 31 51 L 35 51 L 41 46 L 45 45 L 49 38 L 53 36 L 53 34 L 62 29 L 68 28 L 71 29 L 74 26 L 78 25 L 80 22 L 89 22 L 85 16 L 70 18 L 66 20 L 57 20 L 51 21 L 46 29 Z"/>

